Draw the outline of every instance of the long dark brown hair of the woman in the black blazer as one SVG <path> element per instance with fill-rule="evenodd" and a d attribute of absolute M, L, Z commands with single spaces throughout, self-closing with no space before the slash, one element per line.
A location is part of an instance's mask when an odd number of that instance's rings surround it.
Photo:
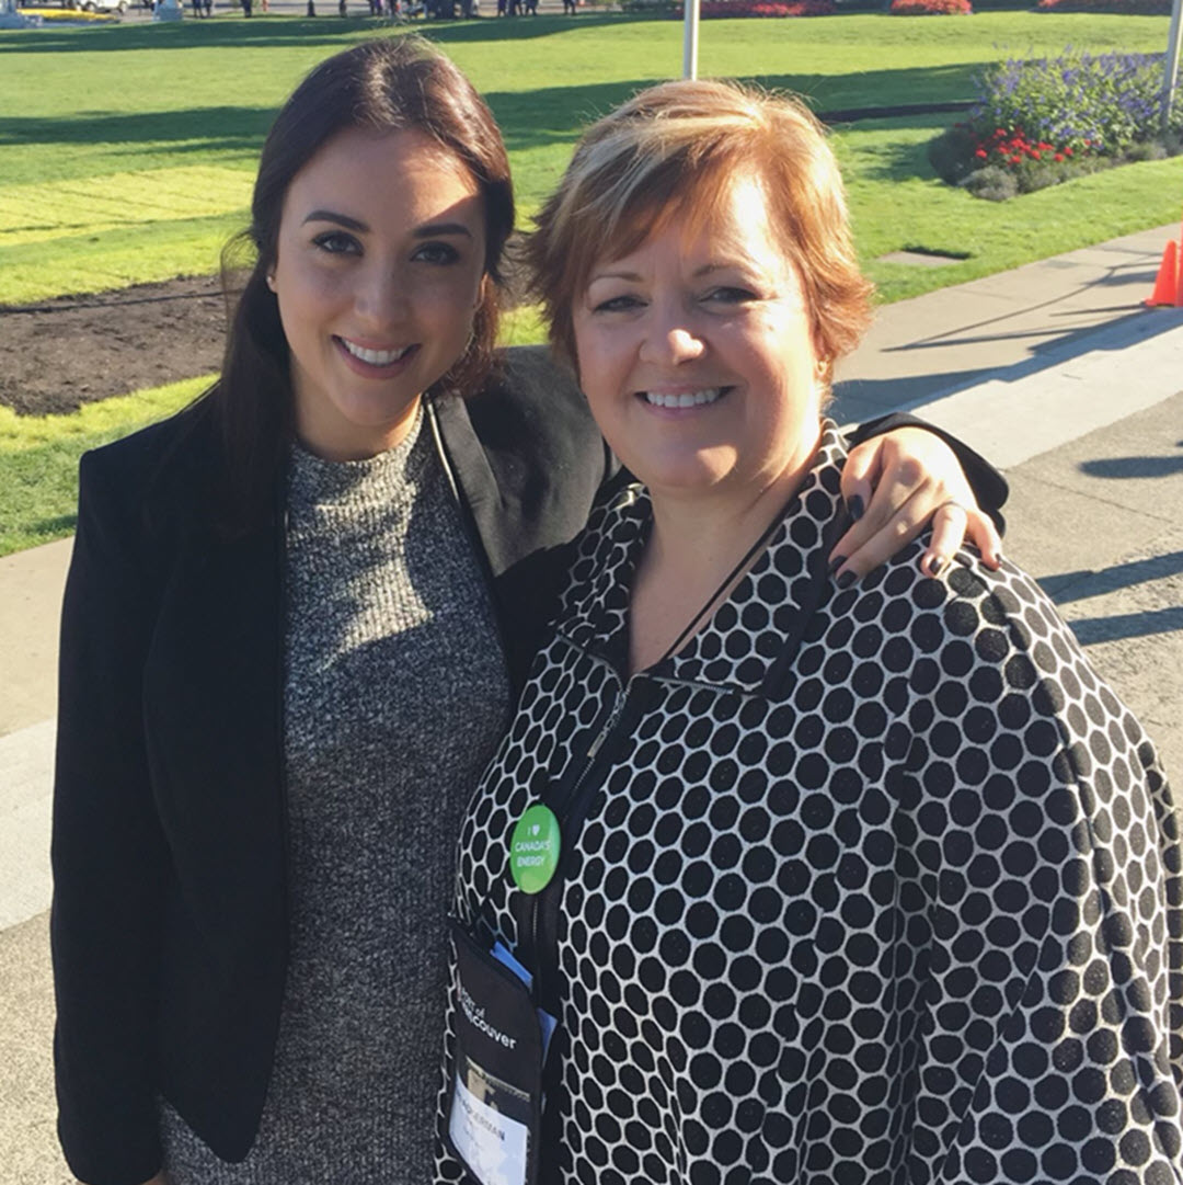
<path fill-rule="evenodd" d="M 226 511 L 239 529 L 270 506 L 295 411 L 288 341 L 275 294 L 274 269 L 283 200 L 292 178 L 337 133 L 414 129 L 432 136 L 471 173 L 484 204 L 484 284 L 464 354 L 437 389 L 476 390 L 493 365 L 501 258 L 514 225 L 509 159 L 501 132 L 472 84 L 419 37 L 364 41 L 322 62 L 276 116 L 259 159 L 251 224 L 226 245 L 223 277 L 249 275 L 230 318 L 221 377 L 206 393 L 225 462 Z"/>

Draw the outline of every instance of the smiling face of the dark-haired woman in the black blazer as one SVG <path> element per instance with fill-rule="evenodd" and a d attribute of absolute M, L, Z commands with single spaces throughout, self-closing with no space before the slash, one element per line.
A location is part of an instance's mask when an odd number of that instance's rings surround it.
<path fill-rule="evenodd" d="M 296 174 L 268 282 L 314 453 L 353 460 L 403 438 L 468 345 L 484 258 L 476 181 L 420 132 L 351 128 Z"/>

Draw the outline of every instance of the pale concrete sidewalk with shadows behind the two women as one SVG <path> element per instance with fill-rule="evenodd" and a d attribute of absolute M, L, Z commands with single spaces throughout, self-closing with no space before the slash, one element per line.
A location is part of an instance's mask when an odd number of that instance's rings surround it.
<path fill-rule="evenodd" d="M 1183 309 L 1146 310 L 1131 235 L 881 310 L 841 421 L 906 408 L 1005 469 L 1007 551 L 1039 577 L 1183 776 Z M 50 1069 L 49 801 L 70 543 L 0 559 L 0 1183 L 65 1185 Z"/>

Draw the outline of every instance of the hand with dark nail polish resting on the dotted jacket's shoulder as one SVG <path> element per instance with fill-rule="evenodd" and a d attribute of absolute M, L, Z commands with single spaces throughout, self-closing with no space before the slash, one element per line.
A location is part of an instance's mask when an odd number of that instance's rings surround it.
<path fill-rule="evenodd" d="M 932 542 L 920 561 L 926 575 L 938 575 L 966 538 L 986 568 L 997 569 L 1002 559 L 1002 539 L 953 450 L 922 428 L 898 428 L 853 448 L 842 497 L 855 523 L 830 552 L 836 579 L 866 576 L 930 523 Z"/>

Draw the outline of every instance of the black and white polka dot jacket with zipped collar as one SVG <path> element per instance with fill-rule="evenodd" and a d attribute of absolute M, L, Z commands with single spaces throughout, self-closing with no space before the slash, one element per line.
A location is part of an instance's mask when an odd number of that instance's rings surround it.
<path fill-rule="evenodd" d="M 457 911 L 560 1018 L 540 1179 L 1179 1185 L 1153 750 L 1012 566 L 930 579 L 917 544 L 810 610 L 842 460 L 828 429 L 750 575 L 631 681 L 649 504 L 593 514 L 471 802 Z M 507 852 L 544 795 L 570 818 L 535 915 Z"/>

